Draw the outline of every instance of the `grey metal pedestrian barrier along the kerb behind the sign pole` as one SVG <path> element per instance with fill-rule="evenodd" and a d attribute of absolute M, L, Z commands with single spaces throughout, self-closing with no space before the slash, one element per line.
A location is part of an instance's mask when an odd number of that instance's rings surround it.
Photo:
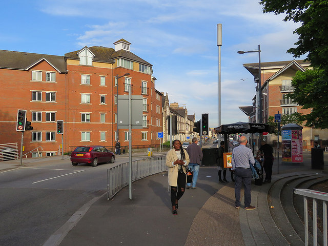
<path fill-rule="evenodd" d="M 132 182 L 166 170 L 165 156 L 132 161 Z M 107 200 L 129 185 L 129 162 L 107 169 Z"/>

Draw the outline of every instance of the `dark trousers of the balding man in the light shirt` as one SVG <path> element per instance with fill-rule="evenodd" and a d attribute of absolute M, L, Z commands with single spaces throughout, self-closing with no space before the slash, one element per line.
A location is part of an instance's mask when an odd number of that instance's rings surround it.
<path fill-rule="evenodd" d="M 245 207 L 251 206 L 251 182 L 252 171 L 251 168 L 236 168 L 235 170 L 235 198 L 236 207 L 240 207 L 240 189 L 244 183 L 244 201 Z"/>

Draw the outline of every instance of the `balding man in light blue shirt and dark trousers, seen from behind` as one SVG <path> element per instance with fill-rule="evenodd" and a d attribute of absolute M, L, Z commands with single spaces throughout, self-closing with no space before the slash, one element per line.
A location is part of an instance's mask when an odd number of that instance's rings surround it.
<path fill-rule="evenodd" d="M 244 202 L 245 210 L 256 209 L 251 206 L 251 181 L 252 171 L 250 167 L 254 165 L 255 160 L 252 150 L 247 148 L 247 138 L 241 136 L 239 139 L 240 145 L 232 151 L 232 169 L 235 172 L 235 206 L 240 209 L 240 189 L 242 182 L 244 183 Z"/>

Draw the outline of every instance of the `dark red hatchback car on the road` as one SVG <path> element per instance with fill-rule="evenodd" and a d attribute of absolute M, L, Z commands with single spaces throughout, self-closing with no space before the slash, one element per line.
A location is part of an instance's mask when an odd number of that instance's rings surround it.
<path fill-rule="evenodd" d="M 71 154 L 71 162 L 73 166 L 78 163 L 89 163 L 92 167 L 96 167 L 98 163 L 115 161 L 115 154 L 107 150 L 104 146 L 79 146 Z"/>

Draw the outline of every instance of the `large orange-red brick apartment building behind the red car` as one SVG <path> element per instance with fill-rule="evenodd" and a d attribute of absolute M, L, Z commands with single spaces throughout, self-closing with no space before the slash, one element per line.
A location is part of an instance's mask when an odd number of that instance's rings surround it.
<path fill-rule="evenodd" d="M 132 130 L 132 148 L 159 146 L 162 93 L 155 90 L 152 65 L 130 52 L 126 40 L 114 45 L 115 49 L 86 46 L 64 56 L 0 50 L 0 144 L 18 142 L 20 148 L 17 109 L 25 109 L 33 130 L 24 133 L 23 154 L 37 147 L 42 147 L 43 156 L 57 154 L 61 135 L 56 134 L 56 120 L 64 120 L 64 152 L 79 145 L 113 149 L 117 91 L 128 95 L 130 84 L 132 95 L 142 95 L 144 103 L 142 129 Z M 127 133 L 119 129 L 123 149 L 128 148 Z"/>

